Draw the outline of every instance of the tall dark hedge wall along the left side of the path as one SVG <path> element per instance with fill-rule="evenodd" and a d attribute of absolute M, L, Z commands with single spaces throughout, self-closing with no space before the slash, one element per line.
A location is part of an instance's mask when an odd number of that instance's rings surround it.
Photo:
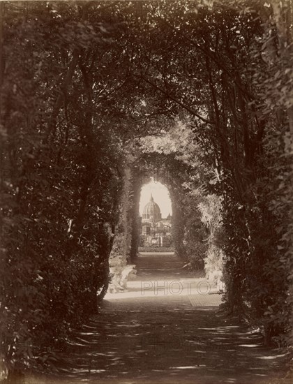
<path fill-rule="evenodd" d="M 97 116 L 89 95 L 93 51 L 107 51 L 109 31 L 84 20 L 87 6 L 42 10 L 22 23 L 8 12 L 3 29 L 1 353 L 9 374 L 45 364 L 40 346 L 62 348 L 97 311 L 121 191 L 121 146 L 103 121 L 109 99 Z"/>

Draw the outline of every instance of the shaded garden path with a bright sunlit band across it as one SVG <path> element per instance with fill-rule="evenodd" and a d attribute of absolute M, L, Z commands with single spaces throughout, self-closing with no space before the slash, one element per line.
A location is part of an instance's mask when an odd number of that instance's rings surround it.
<path fill-rule="evenodd" d="M 271 383 L 284 355 L 218 310 L 220 295 L 172 254 L 142 254 L 128 292 L 107 295 L 60 355 L 26 383 Z M 288 383 L 290 382 L 287 381 Z"/>

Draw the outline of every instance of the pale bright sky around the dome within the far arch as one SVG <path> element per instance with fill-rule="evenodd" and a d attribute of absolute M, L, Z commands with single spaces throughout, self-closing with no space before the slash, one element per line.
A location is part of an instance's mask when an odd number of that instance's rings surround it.
<path fill-rule="evenodd" d="M 149 184 L 142 186 L 140 192 L 140 216 L 142 216 L 144 206 L 149 202 L 151 193 L 153 194 L 153 200 L 160 207 L 162 218 L 165 219 L 168 214 L 172 215 L 171 200 L 167 187 L 160 182 L 151 181 Z"/>

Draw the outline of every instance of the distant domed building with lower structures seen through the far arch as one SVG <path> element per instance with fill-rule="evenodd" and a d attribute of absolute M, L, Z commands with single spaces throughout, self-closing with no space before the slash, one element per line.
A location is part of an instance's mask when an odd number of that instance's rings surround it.
<path fill-rule="evenodd" d="M 166 219 L 162 219 L 160 207 L 153 200 L 153 195 L 144 207 L 142 214 L 142 246 L 170 246 L 172 242 L 171 236 L 170 214 Z"/>

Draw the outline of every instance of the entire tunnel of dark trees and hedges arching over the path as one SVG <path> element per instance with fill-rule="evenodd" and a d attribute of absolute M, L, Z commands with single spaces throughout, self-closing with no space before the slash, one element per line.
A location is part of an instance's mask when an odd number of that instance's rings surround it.
<path fill-rule="evenodd" d="M 1 368 L 50 364 L 137 256 L 160 164 L 176 253 L 223 265 L 225 308 L 292 346 L 292 4 L 5 2 Z"/>

